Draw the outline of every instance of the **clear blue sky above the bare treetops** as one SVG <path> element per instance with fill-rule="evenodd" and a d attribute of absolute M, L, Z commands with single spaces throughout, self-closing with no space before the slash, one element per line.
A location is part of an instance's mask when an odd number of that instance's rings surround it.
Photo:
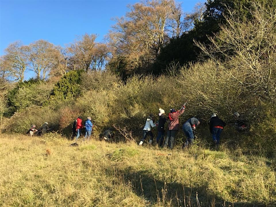
<path fill-rule="evenodd" d="M 202 0 L 182 0 L 183 11 L 191 11 Z M 28 45 L 44 39 L 64 46 L 76 35 L 98 34 L 96 41 L 139 0 L 0 0 L 0 55 L 15 41 Z"/>

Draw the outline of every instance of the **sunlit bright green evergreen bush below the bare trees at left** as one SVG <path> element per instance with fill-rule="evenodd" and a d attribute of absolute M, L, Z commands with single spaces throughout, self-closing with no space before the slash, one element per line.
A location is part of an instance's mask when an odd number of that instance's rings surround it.
<path fill-rule="evenodd" d="M 64 75 L 53 87 L 49 101 L 63 101 L 77 97 L 80 93 L 82 72 L 82 70 L 73 70 Z"/>

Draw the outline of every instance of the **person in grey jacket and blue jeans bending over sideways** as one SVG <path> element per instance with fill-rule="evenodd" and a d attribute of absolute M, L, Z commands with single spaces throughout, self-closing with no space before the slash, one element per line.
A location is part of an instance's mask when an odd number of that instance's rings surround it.
<path fill-rule="evenodd" d="M 201 122 L 200 119 L 197 119 L 196 117 L 192 117 L 183 124 L 182 130 L 187 138 L 185 142 L 183 141 L 182 148 L 189 147 L 193 144 L 193 139 L 194 139 L 193 130 L 196 129 L 196 127 L 200 124 L 200 122 Z"/>

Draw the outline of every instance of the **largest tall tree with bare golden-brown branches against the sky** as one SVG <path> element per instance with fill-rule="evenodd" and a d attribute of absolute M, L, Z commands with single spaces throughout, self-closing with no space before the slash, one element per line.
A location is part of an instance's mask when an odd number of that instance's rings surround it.
<path fill-rule="evenodd" d="M 169 38 L 181 33 L 180 8 L 174 0 L 130 5 L 130 11 L 116 19 L 108 34 L 113 57 L 124 56 L 130 69 L 154 63 Z"/>

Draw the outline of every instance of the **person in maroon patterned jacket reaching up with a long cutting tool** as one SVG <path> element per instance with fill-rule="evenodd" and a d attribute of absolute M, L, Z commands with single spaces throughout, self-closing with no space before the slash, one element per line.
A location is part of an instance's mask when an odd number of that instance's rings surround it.
<path fill-rule="evenodd" d="M 176 111 L 175 109 L 171 109 L 170 113 L 168 115 L 168 119 L 170 120 L 170 123 L 168 125 L 168 132 L 167 132 L 167 138 L 165 140 L 164 147 L 170 147 L 170 149 L 173 149 L 173 144 L 175 142 L 175 136 L 177 134 L 177 131 L 179 130 L 179 116 L 183 114 L 185 111 L 185 106 L 183 105 L 181 110 Z"/>

